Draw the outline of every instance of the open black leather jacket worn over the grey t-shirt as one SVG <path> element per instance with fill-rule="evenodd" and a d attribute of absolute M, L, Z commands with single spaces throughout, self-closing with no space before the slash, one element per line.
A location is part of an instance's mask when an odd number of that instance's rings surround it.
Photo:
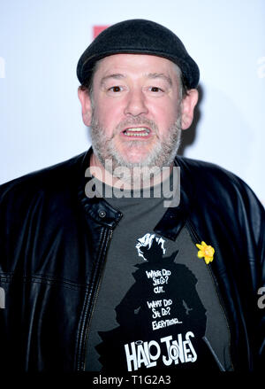
<path fill-rule="evenodd" d="M 156 232 L 216 249 L 208 266 L 231 331 L 235 370 L 264 362 L 264 209 L 238 177 L 178 157 L 181 198 Z M 0 371 L 84 370 L 87 333 L 112 231 L 122 218 L 87 198 L 89 152 L 0 187 Z M 2 289 L 2 292 L 3 292 Z"/>

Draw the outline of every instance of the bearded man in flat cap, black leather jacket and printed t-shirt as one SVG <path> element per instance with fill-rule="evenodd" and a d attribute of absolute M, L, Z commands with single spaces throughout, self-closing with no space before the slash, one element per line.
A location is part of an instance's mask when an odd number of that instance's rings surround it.
<path fill-rule="evenodd" d="M 133 19 L 98 35 L 77 74 L 92 150 L 1 188 L 0 366 L 258 370 L 263 207 L 235 175 L 175 158 L 198 66 Z"/>

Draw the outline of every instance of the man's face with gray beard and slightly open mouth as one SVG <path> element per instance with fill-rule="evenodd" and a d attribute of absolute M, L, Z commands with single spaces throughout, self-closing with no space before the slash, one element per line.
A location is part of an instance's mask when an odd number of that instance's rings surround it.
<path fill-rule="evenodd" d="M 102 165 L 106 159 L 113 167 L 170 165 L 181 127 L 178 69 L 170 60 L 134 54 L 103 58 L 94 75 L 92 105 L 86 124 Z M 84 111 L 83 106 L 83 117 Z"/>

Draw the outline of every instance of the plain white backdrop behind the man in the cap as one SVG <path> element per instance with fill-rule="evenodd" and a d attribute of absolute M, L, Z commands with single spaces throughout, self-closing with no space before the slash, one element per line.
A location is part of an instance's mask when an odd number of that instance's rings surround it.
<path fill-rule="evenodd" d="M 264 0 L 0 1 L 0 183 L 87 150 L 76 65 L 93 26 L 152 19 L 201 69 L 186 157 L 239 175 L 265 203 Z"/>

